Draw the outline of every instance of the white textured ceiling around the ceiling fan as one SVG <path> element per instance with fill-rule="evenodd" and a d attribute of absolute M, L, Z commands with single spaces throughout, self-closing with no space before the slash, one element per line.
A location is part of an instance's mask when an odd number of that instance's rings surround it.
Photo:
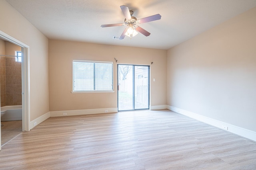
<path fill-rule="evenodd" d="M 256 6 L 256 0 L 6 0 L 49 39 L 170 49 Z M 121 5 L 137 19 L 160 14 L 161 20 L 140 24 L 151 33 L 113 39 L 127 26 Z"/>

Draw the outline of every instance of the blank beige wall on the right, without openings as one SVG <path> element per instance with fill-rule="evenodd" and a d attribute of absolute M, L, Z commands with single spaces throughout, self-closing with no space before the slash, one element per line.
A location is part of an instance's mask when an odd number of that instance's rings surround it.
<path fill-rule="evenodd" d="M 172 49 L 167 104 L 256 131 L 256 8 Z"/>

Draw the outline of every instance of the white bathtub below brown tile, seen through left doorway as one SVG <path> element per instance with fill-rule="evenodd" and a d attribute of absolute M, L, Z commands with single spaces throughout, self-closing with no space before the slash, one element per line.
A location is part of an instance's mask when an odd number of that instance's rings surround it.
<path fill-rule="evenodd" d="M 1 110 L 6 110 L 6 113 L 1 117 L 1 121 L 22 120 L 22 105 L 3 106 Z"/>

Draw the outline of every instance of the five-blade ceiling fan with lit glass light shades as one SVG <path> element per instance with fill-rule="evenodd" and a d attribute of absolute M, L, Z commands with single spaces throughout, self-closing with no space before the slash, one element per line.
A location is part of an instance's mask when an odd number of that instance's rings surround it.
<path fill-rule="evenodd" d="M 134 16 L 132 16 L 133 11 L 130 11 L 128 6 L 122 5 L 120 6 L 122 12 L 124 13 L 125 19 L 124 23 L 114 23 L 114 24 L 107 24 L 107 25 L 101 25 L 101 27 L 114 27 L 114 26 L 122 26 L 127 25 L 128 27 L 124 29 L 122 35 L 119 37 L 119 39 L 124 39 L 125 35 L 129 36 L 130 38 L 134 37 L 138 34 L 138 32 L 142 33 L 146 37 L 150 35 L 148 31 L 143 29 L 142 27 L 139 27 L 138 25 L 140 23 L 146 23 L 150 21 L 160 20 L 161 16 L 160 14 L 156 14 L 153 16 L 149 16 L 146 18 L 142 18 L 137 20 Z M 138 31 L 138 32 L 137 32 Z"/>

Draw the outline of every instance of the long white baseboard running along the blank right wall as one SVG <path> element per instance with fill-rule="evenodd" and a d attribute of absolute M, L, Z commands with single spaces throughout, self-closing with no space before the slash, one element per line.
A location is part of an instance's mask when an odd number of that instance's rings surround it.
<path fill-rule="evenodd" d="M 218 120 L 215 120 L 215 119 L 212 119 L 212 118 L 209 118 L 209 117 L 205 117 L 205 116 L 199 115 L 197 113 L 193 113 L 191 111 L 186 111 L 186 110 L 183 110 L 183 109 L 180 109 L 180 108 L 177 108 L 177 107 L 173 107 L 173 106 L 168 105 L 167 109 L 175 111 L 175 112 L 180 113 L 182 115 L 186 115 L 188 117 L 191 117 L 192 119 L 196 119 L 196 120 L 201 121 L 203 123 L 218 127 L 220 129 L 229 131 L 231 133 L 234 133 L 236 135 L 239 135 L 241 137 L 245 137 L 247 139 L 250 139 L 250 140 L 256 142 L 256 132 L 254 132 L 254 131 L 244 129 L 242 127 L 238 127 L 238 126 L 235 126 L 235 125 L 231 125 L 229 123 L 225 123 L 225 122 L 222 122 L 222 121 L 218 121 Z M 226 128 L 226 129 L 224 129 L 224 128 Z"/>

